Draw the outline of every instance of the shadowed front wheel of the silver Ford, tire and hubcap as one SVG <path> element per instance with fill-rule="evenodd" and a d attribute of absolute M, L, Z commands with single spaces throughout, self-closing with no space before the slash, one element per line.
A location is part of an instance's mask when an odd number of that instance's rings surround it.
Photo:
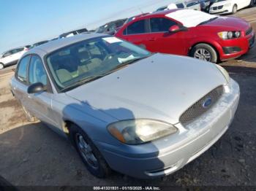
<path fill-rule="evenodd" d="M 105 161 L 97 147 L 95 147 L 91 139 L 89 139 L 89 136 L 87 136 L 81 128 L 75 124 L 71 124 L 69 127 L 69 138 L 91 174 L 98 178 L 105 178 L 110 175 L 111 169 L 108 166 L 108 163 Z M 86 144 L 87 146 L 84 147 Z M 91 154 L 89 154 L 89 152 L 91 152 Z M 90 155 L 90 157 L 87 155 Z M 97 161 L 95 161 L 95 159 Z"/>

